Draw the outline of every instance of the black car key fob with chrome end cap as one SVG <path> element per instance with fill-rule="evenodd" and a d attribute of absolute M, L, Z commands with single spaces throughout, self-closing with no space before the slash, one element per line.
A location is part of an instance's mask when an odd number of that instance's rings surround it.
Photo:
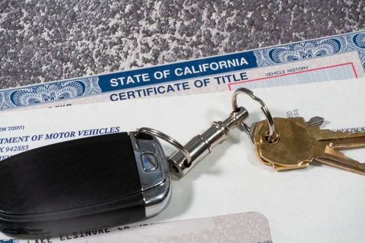
<path fill-rule="evenodd" d="M 36 236 L 122 225 L 161 212 L 170 191 L 167 159 L 153 136 L 56 143 L 0 162 L 0 230 Z"/>

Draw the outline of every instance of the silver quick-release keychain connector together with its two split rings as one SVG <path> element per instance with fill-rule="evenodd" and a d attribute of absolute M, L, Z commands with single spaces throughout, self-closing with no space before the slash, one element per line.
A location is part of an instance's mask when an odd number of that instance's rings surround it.
<path fill-rule="evenodd" d="M 208 130 L 201 135 L 197 135 L 192 138 L 185 144 L 185 146 L 163 132 L 148 127 L 137 129 L 134 136 L 138 138 L 141 134 L 149 134 L 163 139 L 176 147 L 178 151 L 168 158 L 170 171 L 178 177 L 183 177 L 205 156 L 209 155 L 212 152 L 213 147 L 228 139 L 228 134 L 231 128 L 238 125 L 241 130 L 248 134 L 250 134 L 253 130 L 244 121 L 249 116 L 248 111 L 246 108 L 237 105 L 238 94 L 246 94 L 261 104 L 261 110 L 264 112 L 269 125 L 267 141 L 271 143 L 277 142 L 278 135 L 275 134 L 274 121 L 268 107 L 260 98 L 256 97 L 254 93 L 247 88 L 238 88 L 234 92 L 232 96 L 232 107 L 234 111 L 226 120 L 213 122 L 212 126 L 208 128 Z"/>

